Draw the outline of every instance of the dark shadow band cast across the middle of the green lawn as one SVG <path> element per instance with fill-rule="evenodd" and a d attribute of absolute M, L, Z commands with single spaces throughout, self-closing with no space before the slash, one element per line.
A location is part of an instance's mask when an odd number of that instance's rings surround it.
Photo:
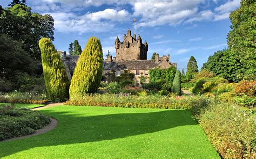
<path fill-rule="evenodd" d="M 191 112 L 184 110 L 105 114 L 90 117 L 51 110 L 43 112 L 58 120 L 57 128 L 32 138 L 0 143 L 0 158 L 34 147 L 112 140 L 178 126 L 197 125 L 197 121 L 191 119 Z"/>

